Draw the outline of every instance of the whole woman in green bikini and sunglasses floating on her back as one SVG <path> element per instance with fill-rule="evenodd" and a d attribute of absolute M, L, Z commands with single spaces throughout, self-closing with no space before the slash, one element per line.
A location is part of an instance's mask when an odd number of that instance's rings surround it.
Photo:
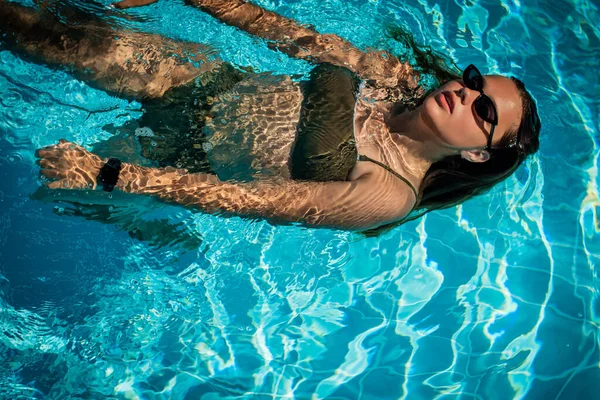
<path fill-rule="evenodd" d="M 155 167 L 61 140 L 37 153 L 48 187 L 114 186 L 211 213 L 369 230 L 481 194 L 538 149 L 537 109 L 515 78 L 482 76 L 471 65 L 462 79 L 438 74 L 448 81 L 426 96 L 419 73 L 388 53 L 244 0 L 191 3 L 318 65 L 302 82 L 244 72 L 200 45 L 89 16 L 66 25 L 43 8 L 0 0 L 14 51 L 70 66 L 145 110 L 132 137 Z M 242 166 L 250 177 L 231 172 Z"/>

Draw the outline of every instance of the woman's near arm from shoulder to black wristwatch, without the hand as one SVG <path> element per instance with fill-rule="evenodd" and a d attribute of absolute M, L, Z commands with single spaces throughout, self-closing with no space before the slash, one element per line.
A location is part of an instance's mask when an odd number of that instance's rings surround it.
<path fill-rule="evenodd" d="M 213 175 L 188 174 L 124 164 L 117 188 L 209 213 L 300 222 L 347 230 L 375 228 L 402 218 L 408 196 L 371 175 L 354 181 L 293 180 L 230 183 Z"/>

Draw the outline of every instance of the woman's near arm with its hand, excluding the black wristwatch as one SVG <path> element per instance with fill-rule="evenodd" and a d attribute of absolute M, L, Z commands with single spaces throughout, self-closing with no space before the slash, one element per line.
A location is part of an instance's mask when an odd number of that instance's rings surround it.
<path fill-rule="evenodd" d="M 51 189 L 94 189 L 103 165 L 95 154 L 61 140 L 38 150 Z M 123 163 L 117 188 L 219 214 L 364 230 L 394 222 L 410 211 L 411 195 L 387 174 L 344 182 L 293 180 L 221 182 L 214 175 Z"/>

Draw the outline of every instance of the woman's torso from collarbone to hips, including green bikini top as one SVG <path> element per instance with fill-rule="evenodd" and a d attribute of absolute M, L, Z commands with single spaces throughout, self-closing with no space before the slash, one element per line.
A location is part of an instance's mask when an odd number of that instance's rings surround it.
<path fill-rule="evenodd" d="M 159 100 L 156 107 L 147 111 L 154 118 L 143 117 L 136 125 L 138 129 L 149 128 L 147 138 L 141 138 L 148 158 L 159 161 L 163 167 L 170 165 L 190 172 L 209 170 L 220 179 L 238 181 L 265 177 L 352 180 L 361 173 L 357 168 L 361 165 L 357 164 L 359 154 L 384 164 L 394 164 L 400 158 L 390 152 L 393 135 L 384 120 L 400 99 L 385 101 L 389 97 L 385 90 L 361 83 L 349 71 L 323 65 L 315 68 L 310 80 L 271 74 L 241 74 L 238 79 L 227 90 L 211 92 L 208 100 L 206 94 L 202 100 L 189 95 L 175 107 L 165 107 L 165 102 Z M 350 79 L 356 81 L 353 87 L 346 82 Z M 187 88 L 173 91 L 182 91 L 180 98 L 190 94 Z M 200 87 L 199 91 L 205 89 Z M 409 94 L 405 96 L 406 103 L 413 100 Z M 169 93 L 165 97 L 169 98 Z M 187 104 L 190 102 L 193 105 Z M 205 103 L 199 104 L 202 102 Z M 173 114 L 184 114 L 190 128 L 173 129 L 168 121 Z M 312 138 L 315 135 L 320 137 Z M 299 149 L 303 143 L 298 141 L 302 142 L 303 136 L 311 136 L 310 144 Z M 198 151 L 194 157 L 186 158 L 184 151 L 174 146 L 155 145 L 157 140 L 160 143 L 165 139 Z M 348 144 L 354 148 L 348 154 L 327 157 Z M 163 148 L 158 154 L 159 150 L 153 147 Z M 298 172 L 302 168 L 299 164 L 306 163 L 309 153 L 323 156 L 321 171 Z M 208 165 L 201 162 L 203 158 Z M 399 163 L 395 164 L 401 169 Z"/>

